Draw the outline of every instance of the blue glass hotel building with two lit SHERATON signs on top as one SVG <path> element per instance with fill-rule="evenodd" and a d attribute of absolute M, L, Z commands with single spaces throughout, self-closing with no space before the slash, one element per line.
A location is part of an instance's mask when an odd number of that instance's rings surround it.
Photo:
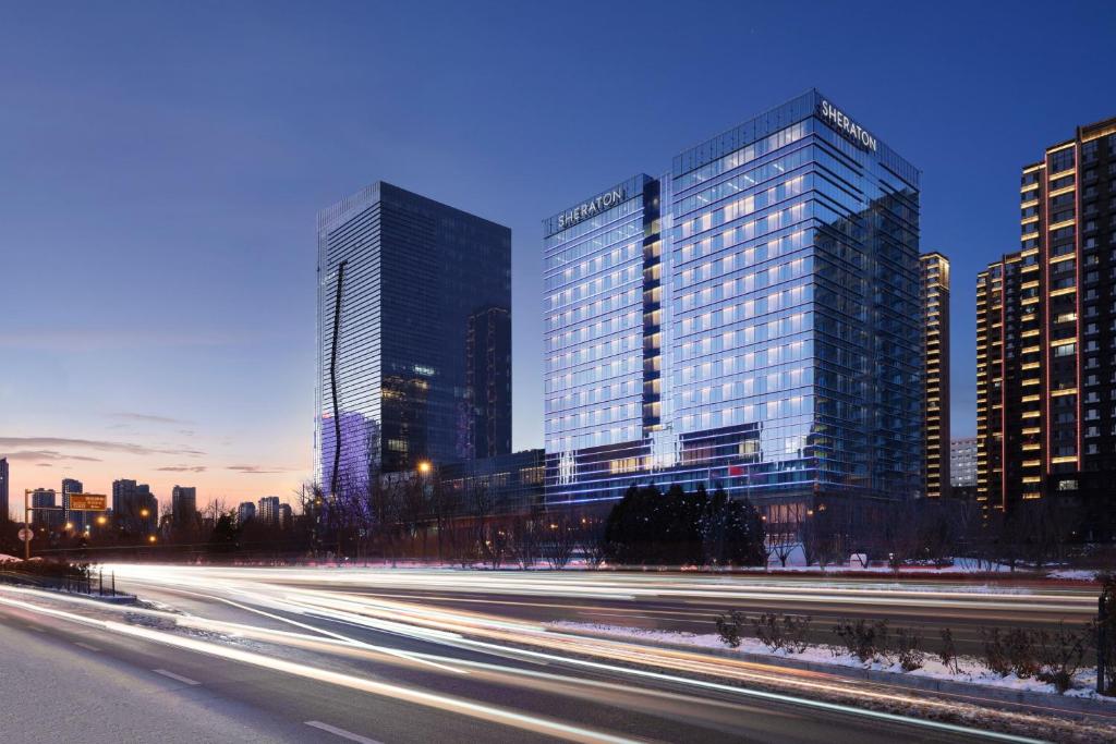
<path fill-rule="evenodd" d="M 810 90 L 545 220 L 548 503 L 918 495 L 918 182 Z"/>

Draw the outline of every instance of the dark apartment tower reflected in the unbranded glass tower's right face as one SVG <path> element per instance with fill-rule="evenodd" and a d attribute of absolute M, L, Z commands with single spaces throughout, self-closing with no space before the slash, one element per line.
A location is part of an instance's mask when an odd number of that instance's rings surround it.
<path fill-rule="evenodd" d="M 471 423 L 465 456 L 511 452 L 511 312 L 484 308 L 469 316 L 465 380 Z"/>

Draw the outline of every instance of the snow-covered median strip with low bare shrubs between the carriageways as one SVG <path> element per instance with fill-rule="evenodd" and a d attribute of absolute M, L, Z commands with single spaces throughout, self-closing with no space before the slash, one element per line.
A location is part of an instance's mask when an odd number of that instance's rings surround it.
<path fill-rule="evenodd" d="M 798 659 L 801 661 L 811 661 L 814 664 L 833 664 L 835 666 L 843 667 L 856 667 L 860 669 L 873 669 L 876 671 L 889 671 L 894 674 L 907 674 L 917 677 L 930 677 L 933 679 L 944 679 L 950 682 L 965 682 L 977 685 L 988 685 L 990 687 L 1008 687 L 1011 689 L 1030 692 L 1030 693 L 1050 693 L 1057 694 L 1055 686 L 1039 682 L 1035 678 L 1020 679 L 1016 675 L 1008 675 L 1007 677 L 1001 677 L 994 671 L 991 671 L 985 667 L 979 659 L 973 657 L 960 657 L 959 658 L 959 671 L 953 673 L 951 669 L 946 668 L 942 664 L 941 659 L 936 655 L 927 654 L 923 660 L 923 667 L 921 669 L 915 669 L 914 671 L 904 671 L 897 661 L 891 661 L 888 659 L 878 658 L 873 661 L 862 661 L 856 656 L 848 654 L 845 649 L 824 646 L 824 645 L 810 645 L 807 646 L 806 650 L 801 654 L 795 654 L 786 649 L 779 649 L 778 651 L 772 651 L 770 648 L 761 644 L 756 638 L 741 637 L 740 647 L 737 649 L 730 649 L 729 646 L 721 640 L 721 637 L 715 632 L 710 634 L 692 634 L 692 632 L 679 632 L 673 630 L 644 630 L 641 628 L 628 628 L 625 626 L 615 625 L 597 625 L 594 622 L 573 622 L 567 620 L 558 620 L 554 622 L 548 622 L 548 627 L 556 630 L 568 631 L 568 632 L 591 632 L 599 634 L 603 636 L 610 636 L 614 638 L 628 639 L 635 641 L 651 641 L 660 644 L 677 644 L 682 646 L 694 646 L 700 648 L 715 648 L 721 650 L 737 650 L 741 654 L 754 654 L 760 656 L 773 656 L 781 658 Z M 1074 677 L 1074 688 L 1066 692 L 1066 695 L 1072 697 L 1088 697 L 1098 700 L 1106 700 L 1116 704 L 1116 698 L 1105 697 L 1103 695 L 1097 695 L 1097 673 L 1096 669 L 1084 669 L 1078 671 Z"/>

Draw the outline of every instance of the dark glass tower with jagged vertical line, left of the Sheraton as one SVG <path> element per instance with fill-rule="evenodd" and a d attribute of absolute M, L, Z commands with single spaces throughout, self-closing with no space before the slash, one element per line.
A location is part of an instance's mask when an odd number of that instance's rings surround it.
<path fill-rule="evenodd" d="M 318 215 L 317 473 L 326 493 L 470 456 L 470 318 L 511 308 L 511 231 L 377 182 Z M 511 346 L 510 323 L 494 331 Z M 499 355 L 478 379 L 510 378 Z M 510 421 L 510 395 L 485 415 Z M 502 438 L 493 445 L 503 447 Z M 510 448 L 510 442 L 508 442 Z"/>

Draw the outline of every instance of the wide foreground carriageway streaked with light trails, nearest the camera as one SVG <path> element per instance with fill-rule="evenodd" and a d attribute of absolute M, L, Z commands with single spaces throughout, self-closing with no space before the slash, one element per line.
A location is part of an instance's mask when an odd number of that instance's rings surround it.
<path fill-rule="evenodd" d="M 959 712 L 972 719 L 966 706 L 979 700 L 929 699 L 825 674 L 586 638 L 540 622 L 568 620 L 570 612 L 605 622 L 602 613 L 617 608 L 626 613 L 614 621 L 643 613 L 660 622 L 690 602 L 700 613 L 744 595 L 785 601 L 775 586 L 761 591 L 739 580 L 639 574 L 151 566 L 116 571 L 122 586 L 158 608 L 106 608 L 0 590 L 0 644 L 19 649 L 23 660 L 16 676 L 28 680 L 13 684 L 7 667 L 0 675 L 0 699 L 28 712 L 17 716 L 19 735 L 3 741 L 75 741 L 66 726 L 78 726 L 87 742 L 867 743 L 989 736 L 941 723 Z M 864 591 L 882 590 L 862 587 L 837 596 L 859 603 Z M 1031 600 L 1004 601 L 1042 617 L 1077 606 L 1059 593 Z M 932 601 L 963 602 L 966 612 L 1004 611 L 1001 600 L 988 607 L 971 598 Z M 77 704 L 52 707 L 45 699 Z M 129 726 L 127 734 L 119 722 Z"/>

